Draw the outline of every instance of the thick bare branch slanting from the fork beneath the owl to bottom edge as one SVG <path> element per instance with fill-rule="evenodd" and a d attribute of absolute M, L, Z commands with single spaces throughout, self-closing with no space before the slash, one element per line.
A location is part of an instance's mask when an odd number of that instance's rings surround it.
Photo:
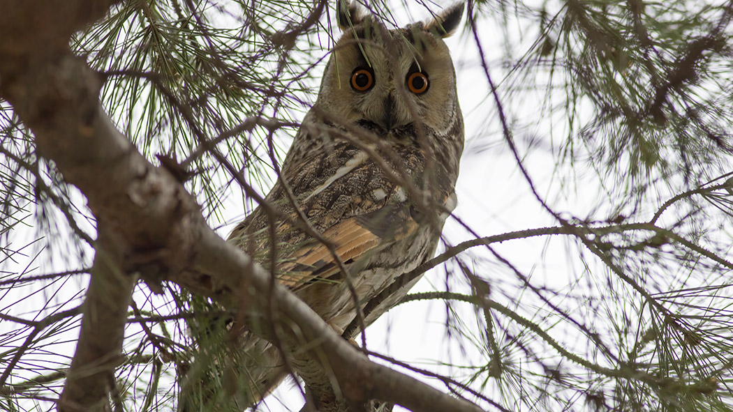
<path fill-rule="evenodd" d="M 481 410 L 465 400 L 450 397 L 402 373 L 369 361 L 367 356 L 339 337 L 307 304 L 286 288 L 276 284 L 273 291 L 269 292 L 267 271 L 213 231 L 203 232 L 199 242 L 202 250 L 196 257 L 197 269 L 213 274 L 226 285 L 239 285 L 231 297 L 236 298 L 240 305 L 247 305 L 251 312 L 259 309 L 259 316 L 264 317 L 261 313 L 268 310 L 268 304 L 262 298 L 269 296 L 273 299 L 277 310 L 273 318 L 281 327 L 282 341 L 287 345 L 301 342 L 297 345 L 301 350 L 310 348 L 306 350 L 311 353 L 312 359 L 333 371 L 347 400 L 388 400 L 412 411 Z M 251 272 L 243 279 L 242 274 L 247 271 Z M 187 280 L 180 280 L 183 285 L 188 285 Z M 256 325 L 257 322 L 253 321 L 252 324 Z"/>

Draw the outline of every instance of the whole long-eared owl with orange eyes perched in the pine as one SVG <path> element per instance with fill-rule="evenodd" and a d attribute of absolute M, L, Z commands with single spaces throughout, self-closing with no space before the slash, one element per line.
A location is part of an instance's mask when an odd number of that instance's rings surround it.
<path fill-rule="evenodd" d="M 317 101 L 267 206 L 240 222 L 229 241 L 341 333 L 357 304 L 432 258 L 456 204 L 463 116 L 443 38 L 460 23 L 463 4 L 400 29 L 386 29 L 356 3 L 338 8 L 342 37 Z M 417 280 L 382 301 L 365 324 Z M 279 382 L 284 367 L 265 340 L 246 336 L 241 348 L 251 402 Z"/>

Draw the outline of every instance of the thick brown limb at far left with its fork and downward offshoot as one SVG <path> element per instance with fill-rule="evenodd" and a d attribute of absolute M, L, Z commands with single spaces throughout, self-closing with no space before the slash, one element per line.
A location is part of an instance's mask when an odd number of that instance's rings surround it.
<path fill-rule="evenodd" d="M 38 153 L 86 195 L 99 225 L 59 411 L 109 410 L 134 283 L 128 273 L 139 271 L 155 283 L 166 270 L 180 270 L 194 243 L 193 233 L 180 229 L 194 221 L 201 225 L 203 218 L 183 187 L 171 184 L 169 173 L 150 165 L 117 132 L 99 102 L 100 78 L 68 50 L 70 34 L 101 17 L 112 2 L 7 3 L 0 3 L 6 10 L 0 15 L 0 96 L 31 128 Z M 40 326 L 32 335 L 38 331 Z M 12 364 L 0 381 L 10 370 Z"/>

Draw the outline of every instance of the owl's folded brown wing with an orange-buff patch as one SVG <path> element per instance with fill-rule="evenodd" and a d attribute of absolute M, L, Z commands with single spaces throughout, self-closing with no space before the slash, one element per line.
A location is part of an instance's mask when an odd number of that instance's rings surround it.
<path fill-rule="evenodd" d="M 410 146 L 394 148 L 402 161 L 399 168 L 419 181 L 423 176 L 424 153 Z M 294 157 L 294 159 L 297 159 Z M 313 228 L 334 244 L 341 261 L 358 271 L 369 255 L 412 236 L 421 217 L 406 191 L 388 179 L 386 173 L 360 149 L 335 143 L 328 151 L 314 152 L 295 163 L 286 159 L 283 177 Z M 438 196 L 438 201 L 444 201 Z M 448 194 L 444 196 L 448 198 Z M 268 203 L 277 207 L 290 221 L 300 219 L 279 182 L 268 195 Z M 444 202 L 443 202 L 444 203 Z M 334 255 L 323 242 L 312 239 L 291 222 L 276 227 L 279 280 L 293 289 L 317 281 L 338 280 L 341 272 Z M 254 250 L 268 250 L 270 239 L 265 228 L 265 213 L 258 208 L 237 226 L 230 239 L 244 233 L 259 233 Z M 245 250 L 246 243 L 240 243 Z M 267 259 L 260 259 L 267 263 Z M 356 264 L 355 264 L 356 263 Z"/>

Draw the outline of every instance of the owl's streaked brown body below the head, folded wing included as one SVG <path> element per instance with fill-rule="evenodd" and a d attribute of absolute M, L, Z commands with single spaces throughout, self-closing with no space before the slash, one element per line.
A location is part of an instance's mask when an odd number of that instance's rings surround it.
<path fill-rule="evenodd" d="M 334 143 L 301 157 L 298 165 L 284 165 L 267 198 L 279 214 L 280 281 L 337 327 L 353 319 L 355 301 L 364 304 L 432 257 L 446 216 L 442 205 L 453 195 L 454 179 L 435 176 L 442 166 L 427 162 L 425 151 L 410 142 L 386 149 Z M 426 218 L 431 208 L 435 216 Z M 326 243 L 303 229 L 303 217 Z M 260 252 L 255 258 L 266 265 L 273 245 L 268 214 L 258 208 L 246 222 L 240 233 L 253 235 L 240 245 Z"/>

